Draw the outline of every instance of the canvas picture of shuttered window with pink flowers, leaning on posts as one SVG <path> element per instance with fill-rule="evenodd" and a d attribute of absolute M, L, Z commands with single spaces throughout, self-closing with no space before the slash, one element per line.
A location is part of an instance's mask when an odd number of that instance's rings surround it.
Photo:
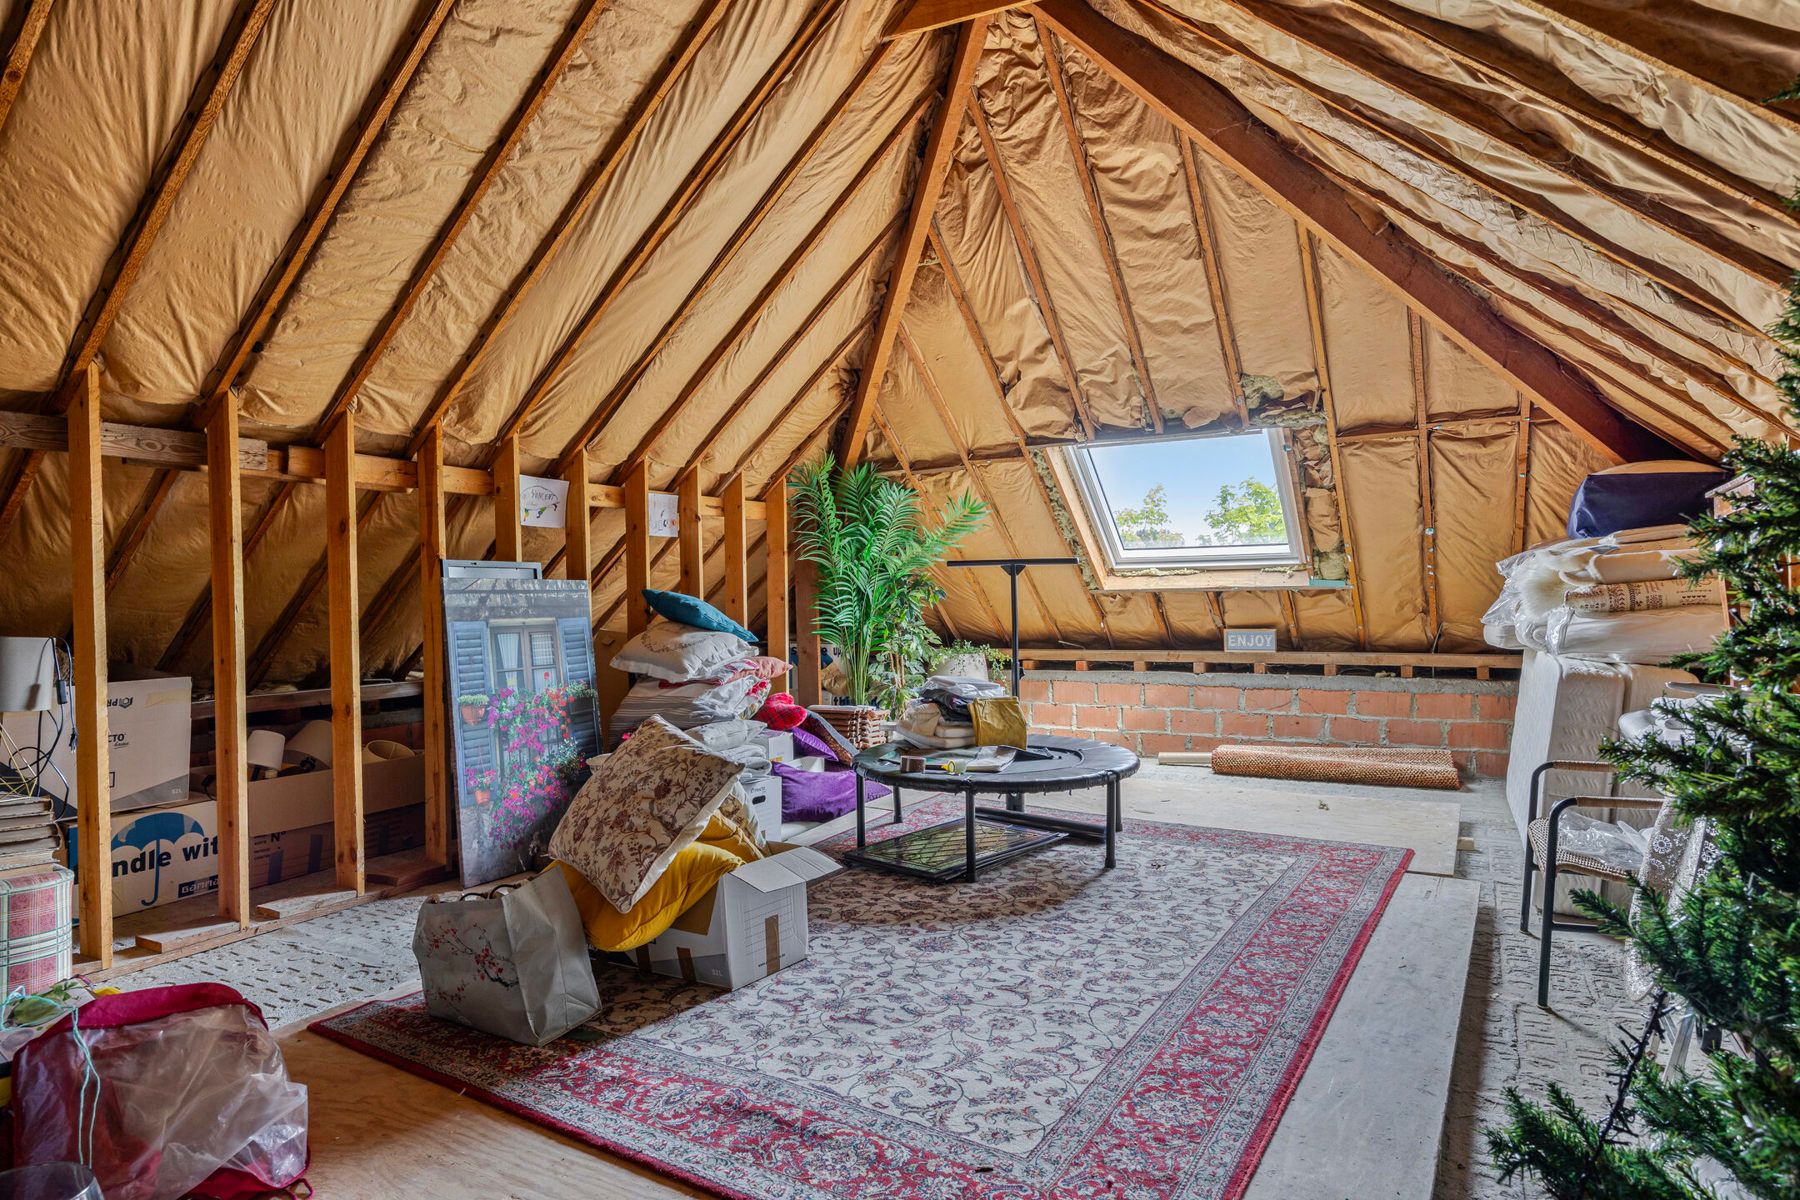
<path fill-rule="evenodd" d="M 598 752 L 581 579 L 445 579 L 463 887 L 527 871 Z"/>

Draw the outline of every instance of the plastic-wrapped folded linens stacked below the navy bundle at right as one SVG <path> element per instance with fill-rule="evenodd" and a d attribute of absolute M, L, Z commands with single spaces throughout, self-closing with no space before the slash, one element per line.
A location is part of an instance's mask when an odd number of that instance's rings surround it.
<path fill-rule="evenodd" d="M 1570 538 L 1498 565 L 1505 583 L 1481 617 L 1489 644 L 1570 658 L 1660 664 L 1724 631 L 1714 579 L 1681 578 L 1685 525 Z"/>

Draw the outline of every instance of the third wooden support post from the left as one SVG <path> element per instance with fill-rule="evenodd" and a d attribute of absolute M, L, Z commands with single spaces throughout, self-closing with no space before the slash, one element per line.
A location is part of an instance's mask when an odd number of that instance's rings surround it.
<path fill-rule="evenodd" d="M 326 439 L 326 570 L 331 601 L 331 820 L 338 887 L 362 894 L 362 597 L 356 588 L 356 414 Z"/>

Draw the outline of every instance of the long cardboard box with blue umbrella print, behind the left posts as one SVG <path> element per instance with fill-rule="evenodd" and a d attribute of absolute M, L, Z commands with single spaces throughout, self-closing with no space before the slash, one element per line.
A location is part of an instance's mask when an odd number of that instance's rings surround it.
<path fill-rule="evenodd" d="M 425 759 L 364 763 L 364 846 L 371 856 L 425 840 Z M 70 829 L 72 840 L 74 829 Z M 250 784 L 250 887 L 326 871 L 333 864 L 331 772 Z M 189 802 L 113 820 L 113 910 L 121 916 L 218 891 L 218 804 Z M 74 855 L 70 855 L 70 864 Z"/>

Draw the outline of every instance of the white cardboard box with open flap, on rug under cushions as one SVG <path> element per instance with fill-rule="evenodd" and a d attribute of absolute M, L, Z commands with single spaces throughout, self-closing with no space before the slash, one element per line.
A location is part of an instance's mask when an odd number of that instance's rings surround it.
<path fill-rule="evenodd" d="M 837 860 L 805 846 L 747 862 L 634 952 L 659 975 L 736 990 L 806 957 L 806 885 L 837 874 Z"/>

